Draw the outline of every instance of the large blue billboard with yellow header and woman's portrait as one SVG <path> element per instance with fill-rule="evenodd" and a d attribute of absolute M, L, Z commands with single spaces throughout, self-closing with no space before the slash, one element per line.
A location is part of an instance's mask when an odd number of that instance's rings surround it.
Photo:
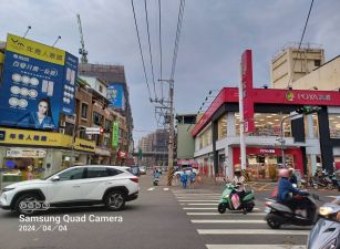
<path fill-rule="evenodd" d="M 78 59 L 9 34 L 0 87 L 0 125 L 56 129 L 74 112 Z"/>

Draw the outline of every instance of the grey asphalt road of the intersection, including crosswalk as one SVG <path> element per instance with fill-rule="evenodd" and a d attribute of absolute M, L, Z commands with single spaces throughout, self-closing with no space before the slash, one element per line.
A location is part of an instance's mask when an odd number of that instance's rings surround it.
<path fill-rule="evenodd" d="M 150 176 L 142 176 L 140 181 L 138 199 L 120 212 L 104 207 L 68 208 L 39 216 L 54 219 L 40 222 L 20 221 L 13 214 L 0 210 L 0 249 L 241 249 L 249 245 L 266 249 L 265 245 L 269 248 L 306 245 L 310 228 L 285 227 L 278 235 L 264 222 L 264 198 L 269 191 L 256 194 L 254 214 L 219 215 L 216 207 L 220 186 L 167 188 L 163 178 L 161 186 L 153 187 Z M 326 196 L 337 195 L 336 191 L 320 193 L 324 201 L 331 199 Z M 71 222 L 65 222 L 65 217 L 70 217 Z M 84 217 L 85 221 L 76 220 Z M 95 217 L 112 217 L 113 221 L 89 220 Z"/>

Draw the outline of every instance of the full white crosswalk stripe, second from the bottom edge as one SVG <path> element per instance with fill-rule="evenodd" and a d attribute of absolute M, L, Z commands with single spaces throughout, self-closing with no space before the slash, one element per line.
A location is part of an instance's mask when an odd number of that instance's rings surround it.
<path fill-rule="evenodd" d="M 278 229 L 197 229 L 199 235 L 297 235 L 308 236 L 309 230 L 278 230 Z M 251 245 L 253 246 L 253 245 Z"/>

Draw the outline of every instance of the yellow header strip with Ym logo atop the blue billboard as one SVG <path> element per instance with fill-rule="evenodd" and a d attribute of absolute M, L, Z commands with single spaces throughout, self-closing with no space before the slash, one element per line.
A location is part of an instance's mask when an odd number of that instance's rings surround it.
<path fill-rule="evenodd" d="M 10 33 L 7 35 L 6 50 L 59 65 L 65 64 L 65 51 Z"/>

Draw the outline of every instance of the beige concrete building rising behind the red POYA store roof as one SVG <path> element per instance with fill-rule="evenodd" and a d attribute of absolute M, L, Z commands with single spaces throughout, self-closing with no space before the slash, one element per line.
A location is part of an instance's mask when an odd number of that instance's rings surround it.
<path fill-rule="evenodd" d="M 287 89 L 295 85 L 295 81 L 309 74 L 323 63 L 324 51 L 319 46 L 303 44 L 299 49 L 298 44 L 288 44 L 277 52 L 271 61 L 271 87 Z"/>

